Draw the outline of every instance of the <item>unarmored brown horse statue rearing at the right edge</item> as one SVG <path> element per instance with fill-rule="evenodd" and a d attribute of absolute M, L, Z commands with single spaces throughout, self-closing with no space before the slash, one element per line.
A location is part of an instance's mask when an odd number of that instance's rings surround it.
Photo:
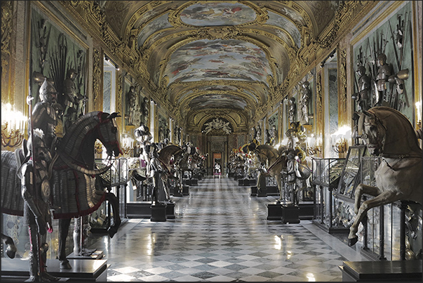
<path fill-rule="evenodd" d="M 407 117 L 393 108 L 372 107 L 358 119 L 358 136 L 382 162 L 375 171 L 376 187 L 360 184 L 356 188 L 350 246 L 358 241 L 358 224 L 369 209 L 399 200 L 422 204 L 422 149 Z M 363 194 L 374 198 L 361 204 Z"/>

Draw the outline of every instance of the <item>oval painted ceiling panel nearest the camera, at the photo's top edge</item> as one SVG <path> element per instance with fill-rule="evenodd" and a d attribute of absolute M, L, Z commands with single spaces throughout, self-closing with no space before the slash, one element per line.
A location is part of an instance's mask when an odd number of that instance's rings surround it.
<path fill-rule="evenodd" d="M 255 11 L 243 4 L 211 2 L 194 4 L 182 11 L 180 18 L 187 25 L 241 25 L 255 20 Z"/>

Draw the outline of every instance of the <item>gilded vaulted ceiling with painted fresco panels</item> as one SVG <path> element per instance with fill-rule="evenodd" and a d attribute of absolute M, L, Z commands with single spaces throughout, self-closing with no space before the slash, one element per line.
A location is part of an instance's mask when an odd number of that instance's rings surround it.
<path fill-rule="evenodd" d="M 191 131 L 262 113 L 338 1 L 97 1 L 137 70 Z M 260 112 L 260 113 L 259 113 Z"/>

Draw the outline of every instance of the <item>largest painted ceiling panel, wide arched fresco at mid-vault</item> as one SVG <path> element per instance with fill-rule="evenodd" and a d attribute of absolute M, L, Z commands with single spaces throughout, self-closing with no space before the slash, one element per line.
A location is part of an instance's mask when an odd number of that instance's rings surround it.
<path fill-rule="evenodd" d="M 174 81 L 267 81 L 271 69 L 259 47 L 240 40 L 197 40 L 177 49 L 164 72 Z"/>

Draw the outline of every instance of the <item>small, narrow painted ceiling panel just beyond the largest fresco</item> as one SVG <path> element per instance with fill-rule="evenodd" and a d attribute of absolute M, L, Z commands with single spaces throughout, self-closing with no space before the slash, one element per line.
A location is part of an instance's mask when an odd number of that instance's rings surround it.
<path fill-rule="evenodd" d="M 204 96 L 197 96 L 189 102 L 189 107 L 192 109 L 228 108 L 234 110 L 244 110 L 246 106 L 246 100 L 243 98 L 215 93 L 206 94 Z"/>

